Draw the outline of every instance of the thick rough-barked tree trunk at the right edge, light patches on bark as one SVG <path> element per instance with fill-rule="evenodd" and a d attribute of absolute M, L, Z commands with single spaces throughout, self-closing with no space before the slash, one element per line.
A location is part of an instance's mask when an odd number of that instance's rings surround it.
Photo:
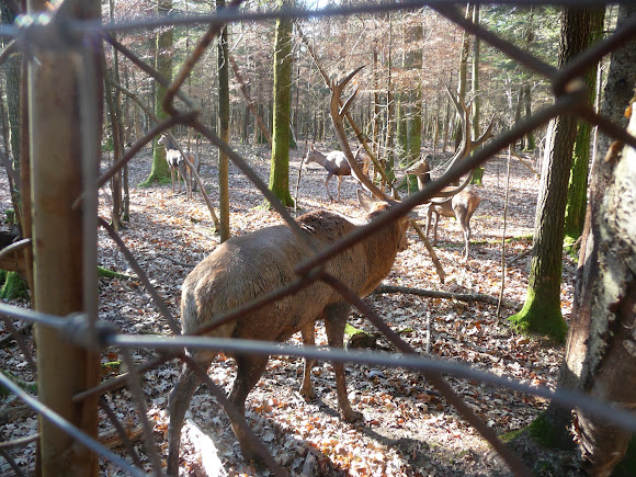
<path fill-rule="evenodd" d="M 617 26 L 634 13 L 636 13 L 636 5 L 621 5 Z M 611 56 L 610 72 L 603 94 L 604 100 L 601 104 L 601 114 L 603 116 L 611 117 L 617 123 L 624 121 L 623 112 L 625 111 L 625 105 L 631 102 L 635 78 L 636 42 L 631 42 L 627 46 L 617 49 Z M 606 140 L 605 147 L 609 147 L 609 144 L 610 141 Z M 603 152 L 607 149 L 600 150 Z M 626 322 L 621 320 L 626 318 L 623 311 L 625 310 L 625 304 L 631 299 L 629 297 L 633 297 L 633 291 L 629 289 L 629 284 L 622 283 L 622 280 L 613 280 L 613 283 L 609 284 L 610 286 L 605 286 L 607 283 L 603 282 L 603 279 L 607 277 L 607 271 L 613 271 L 613 266 L 616 266 L 616 279 L 623 279 L 625 276 L 625 264 L 627 262 L 616 263 L 616 258 L 625 252 L 625 243 L 634 243 L 634 230 L 624 230 L 625 226 L 629 223 L 622 224 L 618 222 L 615 224 L 618 226 L 617 228 L 612 229 L 610 227 L 610 220 L 625 218 L 624 216 L 617 217 L 617 213 L 623 213 L 626 209 L 625 207 L 628 206 L 628 204 L 622 202 L 617 203 L 617 197 L 611 195 L 616 191 L 616 185 L 623 182 L 628 188 L 625 189 L 625 192 L 629 192 L 631 188 L 632 194 L 634 193 L 633 182 L 629 185 L 627 180 L 632 178 L 633 181 L 634 178 L 633 168 L 629 170 L 631 168 L 628 167 L 629 162 L 632 162 L 632 166 L 635 163 L 634 159 L 629 161 L 624 158 L 621 161 L 622 168 L 627 169 L 623 178 L 623 172 L 614 173 L 615 161 L 605 161 L 597 157 L 592 163 L 590 198 L 587 207 L 579 266 L 576 276 L 575 304 L 566 344 L 566 355 L 559 372 L 558 389 L 588 390 L 599 396 L 599 388 L 597 387 L 594 389 L 597 377 L 600 378 L 599 384 L 609 386 L 609 389 L 613 388 L 611 384 L 612 376 L 607 374 L 611 367 L 607 365 L 612 359 L 615 359 L 615 352 L 621 352 L 622 350 L 612 350 L 613 348 L 621 348 L 625 344 L 627 347 L 632 345 L 633 337 L 625 340 L 621 336 L 621 328 L 627 329 L 625 327 L 629 326 L 628 320 Z M 627 182 L 625 182 L 626 180 Z M 602 208 L 605 191 L 607 191 L 609 202 L 616 211 L 607 209 L 607 207 Z M 624 196 L 628 198 L 634 195 L 624 194 Z M 606 216 L 603 216 L 603 214 L 606 214 Z M 634 223 L 632 217 L 632 224 Z M 602 247 L 606 247 L 607 250 L 603 250 L 601 253 Z M 605 258 L 607 254 L 610 261 Z M 632 257 L 628 260 L 633 260 L 633 257 L 634 252 L 632 251 Z M 616 303 L 607 303 L 607 299 L 603 298 L 605 292 L 607 292 L 607 298 L 611 302 L 617 291 L 624 295 Z M 603 300 L 605 302 L 604 304 L 602 303 Z M 620 306 L 615 306 L 616 304 L 620 304 Z M 609 309 L 604 309 L 604 306 L 607 305 Z M 632 311 L 632 319 L 633 317 L 634 313 Z M 618 331 L 618 334 L 611 332 L 615 330 Z M 625 351 L 627 350 L 626 348 Z M 603 356 L 610 356 L 610 361 L 605 362 Z M 633 363 L 633 356 L 624 357 L 625 365 Z M 598 367 L 600 363 L 602 364 Z M 623 364 L 617 363 L 617 365 L 622 366 Z M 597 372 L 599 373 L 598 376 L 595 375 Z M 614 374 L 613 377 L 618 381 L 621 389 L 611 397 L 612 400 L 625 400 L 629 395 L 633 395 L 634 383 L 629 379 L 626 381 L 629 376 L 634 376 L 634 373 Z M 569 434 L 571 409 L 550 404 L 544 414 L 544 419 L 550 427 L 550 434 L 558 438 L 560 443 L 569 443 L 571 445 L 572 442 Z M 603 475 L 623 456 L 627 436 L 621 431 L 617 431 L 616 435 L 612 435 L 612 430 L 603 425 L 597 428 L 583 414 L 579 414 L 579 420 L 582 421 L 581 427 L 584 433 L 583 436 L 580 436 L 583 443 L 583 452 L 588 459 L 593 463 L 592 467 L 597 467 L 595 470 L 592 469 L 592 474 L 598 473 L 599 475 Z M 599 434 L 597 434 L 597 431 Z M 609 443 L 613 443 L 612 450 L 602 448 L 594 444 L 594 441 L 599 441 L 598 435 L 603 434 L 603 439 L 607 439 Z M 611 454 L 607 454 L 607 451 Z"/>

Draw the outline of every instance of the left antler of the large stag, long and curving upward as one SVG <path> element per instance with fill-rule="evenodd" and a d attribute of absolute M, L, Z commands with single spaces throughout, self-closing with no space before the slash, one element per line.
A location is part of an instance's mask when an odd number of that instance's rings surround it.
<path fill-rule="evenodd" d="M 357 89 L 351 93 L 349 99 L 344 101 L 342 107 L 340 107 L 340 96 L 342 95 L 342 91 L 344 87 L 351 81 L 351 79 L 362 69 L 364 65 L 361 67 L 355 68 L 351 71 L 342 81 L 332 81 L 329 88 L 331 89 L 331 105 L 330 105 L 330 113 L 331 113 L 331 121 L 333 122 L 333 128 L 336 129 L 336 137 L 338 137 L 338 143 L 340 143 L 340 148 L 344 156 L 347 157 L 347 161 L 351 167 L 352 174 L 373 195 L 382 201 L 390 201 L 390 197 L 386 195 L 382 190 L 379 190 L 371 179 L 362 173 L 360 166 L 357 166 L 357 161 L 353 152 L 351 151 L 351 146 L 349 145 L 349 140 L 347 139 L 347 134 L 344 132 L 343 118 L 347 114 L 347 111 L 353 104 L 353 100 L 357 94 Z"/>

